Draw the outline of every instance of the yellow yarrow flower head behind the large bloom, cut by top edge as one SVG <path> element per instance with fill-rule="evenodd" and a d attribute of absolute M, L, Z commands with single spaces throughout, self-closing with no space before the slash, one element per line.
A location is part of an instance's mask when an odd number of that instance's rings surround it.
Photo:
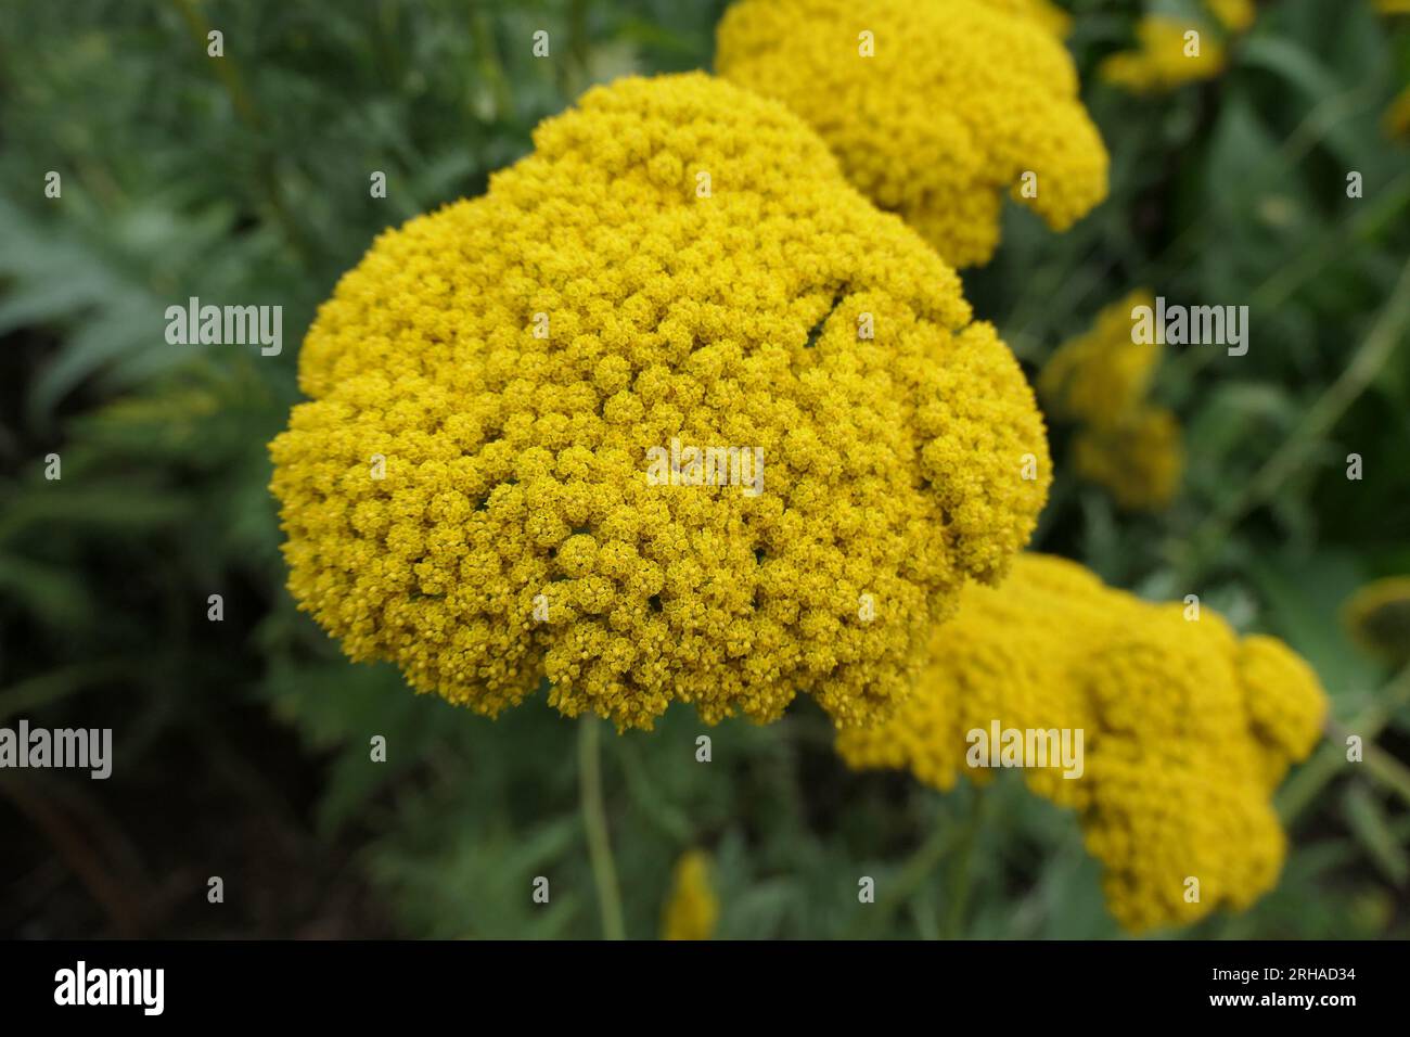
<path fill-rule="evenodd" d="M 740 0 L 715 62 L 802 116 L 864 195 L 969 267 L 993 254 L 1005 193 L 1055 230 L 1107 196 L 1107 150 L 1067 51 L 1011 6 Z"/>

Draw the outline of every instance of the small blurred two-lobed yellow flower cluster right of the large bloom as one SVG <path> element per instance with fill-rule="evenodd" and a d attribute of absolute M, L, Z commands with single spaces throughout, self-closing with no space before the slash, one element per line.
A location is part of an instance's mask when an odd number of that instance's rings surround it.
<path fill-rule="evenodd" d="M 1184 451 L 1175 415 L 1146 401 L 1160 346 L 1132 336 L 1136 306 L 1155 306 L 1149 291 L 1103 308 L 1090 332 L 1048 358 L 1038 391 L 1048 413 L 1079 426 L 1079 477 L 1110 490 L 1124 508 L 1158 509 L 1180 485 Z"/>

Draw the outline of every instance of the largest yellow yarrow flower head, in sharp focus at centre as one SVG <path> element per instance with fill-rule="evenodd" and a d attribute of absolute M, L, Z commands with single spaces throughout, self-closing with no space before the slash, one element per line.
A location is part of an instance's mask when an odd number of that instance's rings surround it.
<path fill-rule="evenodd" d="M 591 90 L 486 196 L 382 234 L 299 377 L 271 446 L 290 591 L 485 714 L 547 677 L 619 727 L 799 690 L 874 720 L 1048 491 L 956 274 L 781 104 L 701 73 Z M 763 492 L 653 485 L 673 439 L 763 450 Z"/>

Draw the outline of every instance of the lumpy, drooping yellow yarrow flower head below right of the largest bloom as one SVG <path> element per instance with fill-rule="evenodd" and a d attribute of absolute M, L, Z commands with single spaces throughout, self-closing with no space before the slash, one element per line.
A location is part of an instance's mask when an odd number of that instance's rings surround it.
<path fill-rule="evenodd" d="M 1117 920 L 1139 931 L 1244 909 L 1277 879 L 1270 794 L 1316 744 L 1325 698 L 1280 641 L 1187 614 L 1022 554 L 998 587 L 966 588 L 915 696 L 881 727 L 839 732 L 838 751 L 854 769 L 909 769 L 950 789 L 993 776 L 967 766 L 970 731 L 1081 728 L 1080 777 L 1024 776 L 1079 811 Z"/>

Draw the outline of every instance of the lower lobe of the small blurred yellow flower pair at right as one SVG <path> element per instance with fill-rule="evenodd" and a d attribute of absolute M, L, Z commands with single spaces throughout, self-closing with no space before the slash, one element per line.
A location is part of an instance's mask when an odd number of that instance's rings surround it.
<path fill-rule="evenodd" d="M 1180 422 L 1163 408 L 1141 406 L 1115 425 L 1089 425 L 1073 439 L 1072 461 L 1079 478 L 1122 508 L 1160 511 L 1184 473 Z"/>

